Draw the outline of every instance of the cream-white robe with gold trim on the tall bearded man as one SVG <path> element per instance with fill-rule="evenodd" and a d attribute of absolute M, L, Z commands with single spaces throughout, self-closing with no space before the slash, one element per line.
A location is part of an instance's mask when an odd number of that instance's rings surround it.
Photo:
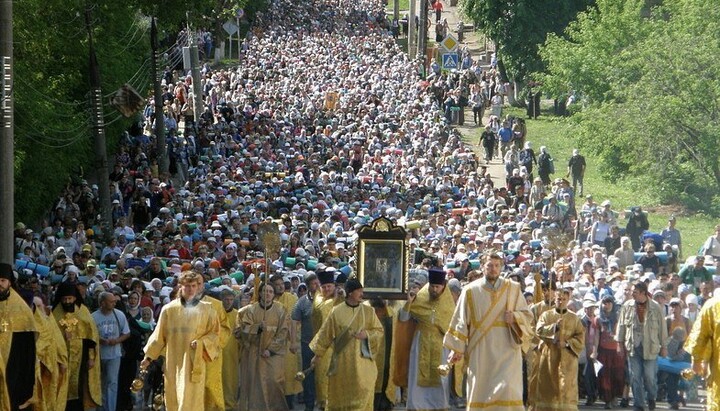
<path fill-rule="evenodd" d="M 505 311 L 512 313 L 512 324 Z M 525 411 L 522 346 L 532 338 L 531 323 L 520 284 L 498 278 L 493 285 L 481 278 L 463 288 L 443 343 L 464 354 L 467 410 Z"/>

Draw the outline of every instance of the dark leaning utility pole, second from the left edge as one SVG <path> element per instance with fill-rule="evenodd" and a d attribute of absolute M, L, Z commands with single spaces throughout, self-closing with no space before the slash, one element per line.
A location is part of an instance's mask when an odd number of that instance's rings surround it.
<path fill-rule="evenodd" d="M 92 129 L 95 141 L 95 173 L 100 191 L 100 215 L 102 216 L 103 236 L 105 240 L 112 233 L 112 210 L 110 205 L 110 176 L 105 149 L 105 121 L 103 119 L 102 90 L 100 89 L 100 68 L 98 67 L 95 46 L 92 40 L 90 27 L 90 8 L 85 9 L 85 27 L 88 31 L 88 44 L 90 46 L 90 111 L 92 112 Z"/>

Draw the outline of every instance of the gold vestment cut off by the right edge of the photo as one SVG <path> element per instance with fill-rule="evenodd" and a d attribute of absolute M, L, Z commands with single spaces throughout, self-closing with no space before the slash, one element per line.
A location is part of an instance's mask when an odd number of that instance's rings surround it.
<path fill-rule="evenodd" d="M 720 410 L 720 296 L 703 304 L 684 349 L 692 355 L 693 363 L 707 364 L 705 407 L 708 411 Z"/>

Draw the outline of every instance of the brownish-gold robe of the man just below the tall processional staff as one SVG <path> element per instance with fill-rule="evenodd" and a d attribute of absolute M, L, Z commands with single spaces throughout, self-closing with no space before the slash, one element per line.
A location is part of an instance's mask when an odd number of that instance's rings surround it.
<path fill-rule="evenodd" d="M 285 393 L 285 352 L 290 316 L 273 302 L 243 307 L 238 313 L 240 335 L 240 410 L 287 410 Z M 264 351 L 270 356 L 263 358 Z"/>

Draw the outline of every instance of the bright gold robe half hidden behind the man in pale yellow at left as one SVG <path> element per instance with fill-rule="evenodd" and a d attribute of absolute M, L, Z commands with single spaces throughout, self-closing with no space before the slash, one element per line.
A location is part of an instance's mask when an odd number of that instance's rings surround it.
<path fill-rule="evenodd" d="M 203 296 L 200 301 L 212 305 L 218 321 L 220 322 L 220 334 L 218 335 L 218 347 L 222 350 L 230 339 L 231 328 L 228 325 L 227 314 L 222 302 L 217 298 Z M 205 411 L 224 411 L 225 396 L 223 395 L 222 380 L 222 355 L 216 360 L 210 361 L 206 366 L 205 377 Z"/>

